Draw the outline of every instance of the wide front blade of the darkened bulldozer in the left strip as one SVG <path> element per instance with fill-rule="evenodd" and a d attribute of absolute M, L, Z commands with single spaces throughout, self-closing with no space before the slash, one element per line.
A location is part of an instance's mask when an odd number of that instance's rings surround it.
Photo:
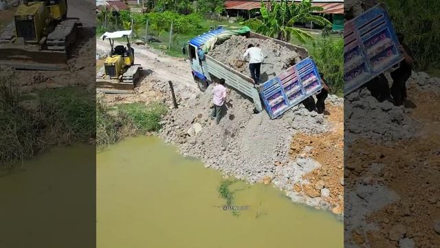
<path fill-rule="evenodd" d="M 28 50 L 25 48 L 0 46 L 0 65 L 18 70 L 68 70 L 67 54 L 47 50 Z"/>

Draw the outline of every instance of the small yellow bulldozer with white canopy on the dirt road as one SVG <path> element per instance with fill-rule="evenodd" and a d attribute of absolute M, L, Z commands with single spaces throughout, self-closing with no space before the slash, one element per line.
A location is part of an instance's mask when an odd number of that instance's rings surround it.
<path fill-rule="evenodd" d="M 96 73 L 96 90 L 113 94 L 132 94 L 142 72 L 141 65 L 135 65 L 135 50 L 131 47 L 131 30 L 106 32 L 100 37 L 109 39 L 110 52 L 104 66 Z M 126 39 L 126 46 L 116 45 L 115 39 Z"/>

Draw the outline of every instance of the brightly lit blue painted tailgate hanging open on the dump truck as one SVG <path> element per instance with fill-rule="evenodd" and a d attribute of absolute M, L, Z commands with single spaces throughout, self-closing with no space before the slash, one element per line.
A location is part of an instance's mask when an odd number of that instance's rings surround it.
<path fill-rule="evenodd" d="M 270 118 L 276 118 L 322 87 L 315 61 L 308 57 L 263 83 L 260 96 Z"/>

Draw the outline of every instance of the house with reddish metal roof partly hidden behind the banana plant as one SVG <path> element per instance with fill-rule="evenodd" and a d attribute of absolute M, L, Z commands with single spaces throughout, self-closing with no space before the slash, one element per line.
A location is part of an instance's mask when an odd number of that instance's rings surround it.
<path fill-rule="evenodd" d="M 270 0 L 263 0 L 270 2 Z M 279 0 L 278 0 L 279 1 Z M 301 0 L 294 0 L 300 2 Z M 316 14 L 327 14 L 326 17 L 333 23 L 333 30 L 342 30 L 344 28 L 344 0 L 311 0 L 313 6 L 320 6 L 324 10 Z M 251 17 L 252 10 L 259 10 L 261 0 L 234 0 L 225 1 L 225 9 L 230 16 Z"/>

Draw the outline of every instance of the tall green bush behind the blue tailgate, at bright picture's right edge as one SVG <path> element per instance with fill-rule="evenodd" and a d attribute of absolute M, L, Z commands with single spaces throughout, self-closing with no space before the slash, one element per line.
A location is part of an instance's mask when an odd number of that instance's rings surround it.
<path fill-rule="evenodd" d="M 333 41 L 323 37 L 314 43 L 311 56 L 324 74 L 332 94 L 342 95 L 344 91 L 344 40 Z"/>

